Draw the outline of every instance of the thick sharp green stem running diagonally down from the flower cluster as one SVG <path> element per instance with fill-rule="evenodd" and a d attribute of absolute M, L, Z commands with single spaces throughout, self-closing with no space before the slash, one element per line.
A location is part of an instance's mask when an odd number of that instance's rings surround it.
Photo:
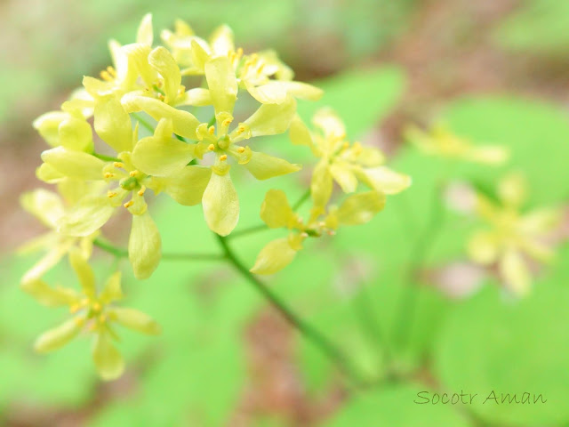
<path fill-rule="evenodd" d="M 348 376 L 355 384 L 363 385 L 363 382 L 359 375 L 357 375 L 354 368 L 349 363 L 345 354 L 337 348 L 332 342 L 320 334 L 317 329 L 306 323 L 301 317 L 299 317 L 293 310 L 288 308 L 286 304 L 276 295 L 273 294 L 267 286 L 265 286 L 259 278 L 256 278 L 251 271 L 249 271 L 242 262 L 236 258 L 233 250 L 228 246 L 227 238 L 224 238 L 218 234 L 215 235 L 223 252 L 228 259 L 228 261 L 233 265 L 233 267 L 241 273 L 241 275 L 247 279 L 249 283 L 270 302 L 273 307 L 278 310 L 278 312 L 294 327 L 296 328 L 306 339 L 316 345 L 329 359 L 333 360 L 336 366 L 341 370 L 341 372 Z"/>

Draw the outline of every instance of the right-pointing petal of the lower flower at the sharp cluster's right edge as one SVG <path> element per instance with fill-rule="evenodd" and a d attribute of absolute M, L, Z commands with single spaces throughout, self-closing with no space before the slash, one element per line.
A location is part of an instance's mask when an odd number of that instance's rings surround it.
<path fill-rule="evenodd" d="M 379 191 L 366 191 L 349 196 L 338 208 L 335 216 L 341 225 L 359 225 L 370 222 L 385 206 L 385 195 Z"/>

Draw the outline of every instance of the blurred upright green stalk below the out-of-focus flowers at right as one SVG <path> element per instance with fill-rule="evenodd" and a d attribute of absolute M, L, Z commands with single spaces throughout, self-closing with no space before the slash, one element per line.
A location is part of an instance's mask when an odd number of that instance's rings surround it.
<path fill-rule="evenodd" d="M 400 345 L 400 348 L 402 350 L 405 348 L 406 342 L 409 338 L 410 327 L 413 324 L 417 311 L 417 300 L 419 293 L 417 292 L 417 287 L 415 286 L 414 274 L 416 270 L 421 269 L 423 263 L 429 255 L 429 250 L 435 243 L 437 234 L 444 222 L 443 217 L 445 210 L 440 200 L 441 188 L 442 185 L 437 186 L 435 188 L 435 191 L 433 191 L 434 197 L 431 202 L 432 205 L 429 222 L 421 233 L 421 236 L 415 241 L 415 245 L 413 246 L 410 256 L 409 270 L 407 270 L 407 274 L 405 275 L 403 282 L 403 296 L 401 298 L 401 303 L 397 312 L 398 314 L 394 335 L 396 342 Z"/>

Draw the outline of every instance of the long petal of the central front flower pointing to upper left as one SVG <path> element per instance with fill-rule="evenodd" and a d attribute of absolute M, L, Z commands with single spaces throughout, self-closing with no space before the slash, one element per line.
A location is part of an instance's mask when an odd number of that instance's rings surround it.
<path fill-rule="evenodd" d="M 123 103 L 124 109 L 129 113 L 144 111 L 155 120 L 160 120 L 164 117 L 170 118 L 172 119 L 174 133 L 189 138 L 190 140 L 197 139 L 196 127 L 199 125 L 199 120 L 188 113 L 188 111 L 174 109 L 162 101 L 140 96 L 136 93 L 126 93 L 121 102 Z"/>

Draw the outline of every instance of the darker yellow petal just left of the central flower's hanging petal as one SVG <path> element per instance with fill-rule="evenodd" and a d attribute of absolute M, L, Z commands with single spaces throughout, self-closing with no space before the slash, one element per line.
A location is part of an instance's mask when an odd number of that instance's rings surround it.
<path fill-rule="evenodd" d="M 212 169 L 205 166 L 186 166 L 179 173 L 165 178 L 155 178 L 160 189 L 180 205 L 198 205 L 212 176 Z"/>

